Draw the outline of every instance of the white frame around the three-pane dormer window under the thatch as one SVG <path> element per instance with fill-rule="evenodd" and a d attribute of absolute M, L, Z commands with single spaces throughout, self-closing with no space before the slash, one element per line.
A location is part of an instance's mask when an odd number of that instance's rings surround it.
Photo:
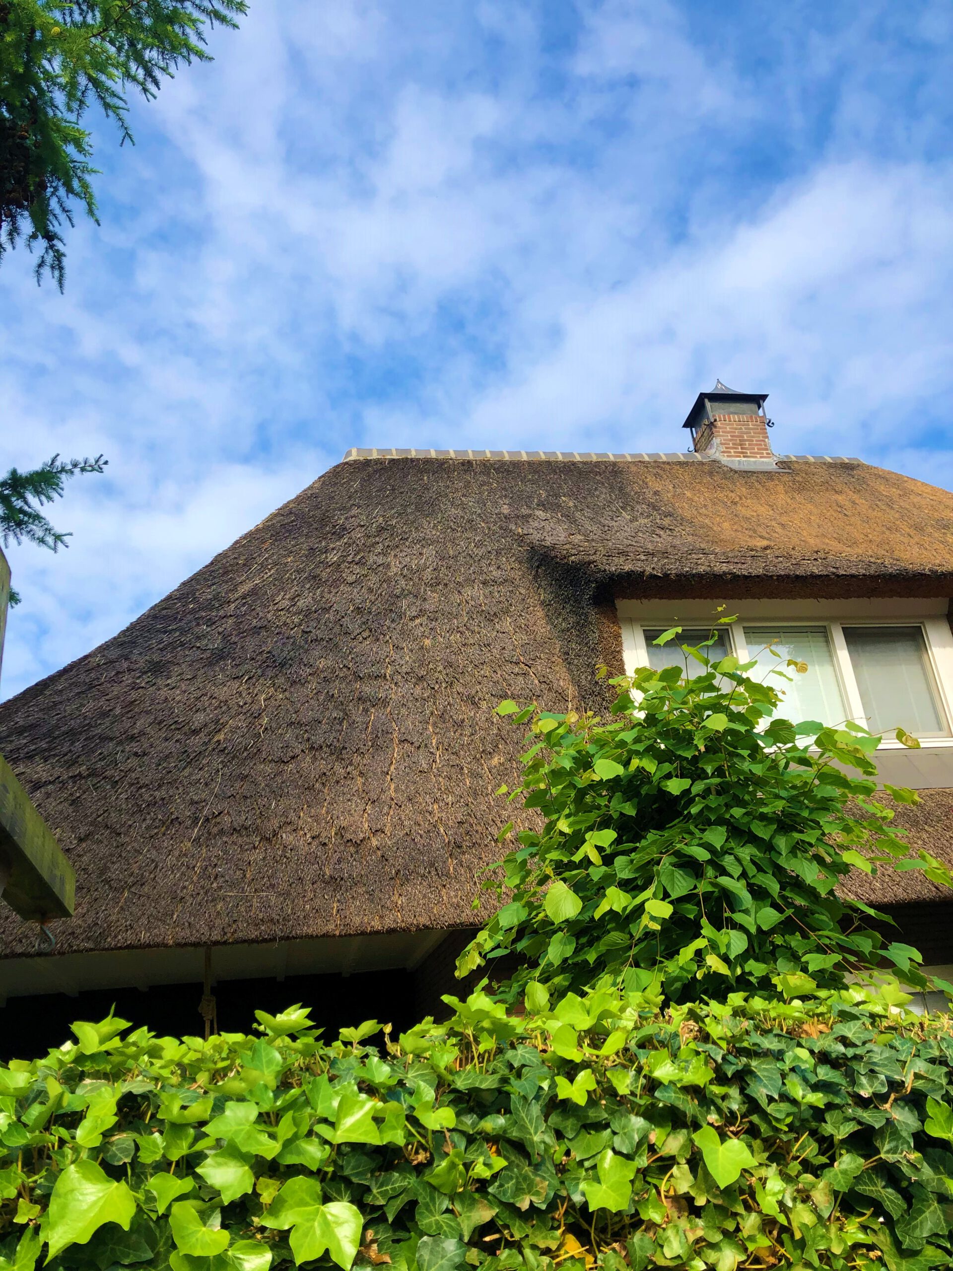
<path fill-rule="evenodd" d="M 831 643 L 834 665 L 848 710 L 855 723 L 867 726 L 860 691 L 850 663 L 844 627 L 920 627 L 924 633 L 926 657 L 933 672 L 938 707 L 943 716 L 947 736 L 924 735 L 921 747 L 953 747 L 953 630 L 947 618 L 949 601 L 936 600 L 619 600 L 616 608 L 623 633 L 623 655 L 626 675 L 637 666 L 648 665 L 648 646 L 644 629 L 661 627 L 715 625 L 718 616 L 734 615 L 737 620 L 727 627 L 728 644 L 743 662 L 750 660 L 745 641 L 745 625 L 802 625 L 825 627 Z M 717 613 L 718 605 L 726 608 Z M 902 750 L 892 737 L 881 741 L 882 750 Z"/>

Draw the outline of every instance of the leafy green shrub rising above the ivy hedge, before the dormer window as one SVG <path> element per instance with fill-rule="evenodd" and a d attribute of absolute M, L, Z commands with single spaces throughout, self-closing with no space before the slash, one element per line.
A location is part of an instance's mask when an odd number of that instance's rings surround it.
<path fill-rule="evenodd" d="M 835 891 L 851 868 L 920 869 L 953 885 L 891 824 L 917 796 L 878 787 L 881 738 L 854 723 L 790 723 L 779 688 L 751 677 L 756 662 L 710 663 L 704 647 L 687 656 L 695 677 L 675 666 L 612 680 L 609 721 L 497 708 L 530 723 L 522 782 L 498 793 L 536 810 L 541 829 L 504 826 L 501 841 L 516 846 L 487 882 L 501 907 L 459 972 L 515 956 L 508 1000 L 535 980 L 560 993 L 654 985 L 667 1002 L 738 989 L 792 996 L 884 965 L 926 988 L 920 953 L 874 925 L 889 920 Z"/>

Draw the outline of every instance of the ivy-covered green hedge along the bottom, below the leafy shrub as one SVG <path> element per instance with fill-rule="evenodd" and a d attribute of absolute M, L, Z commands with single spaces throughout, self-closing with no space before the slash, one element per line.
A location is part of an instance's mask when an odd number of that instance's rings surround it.
<path fill-rule="evenodd" d="M 333 1043 L 111 1018 L 0 1068 L 0 1267 L 949 1265 L 953 1031 L 896 989 L 452 1005 Z"/>

